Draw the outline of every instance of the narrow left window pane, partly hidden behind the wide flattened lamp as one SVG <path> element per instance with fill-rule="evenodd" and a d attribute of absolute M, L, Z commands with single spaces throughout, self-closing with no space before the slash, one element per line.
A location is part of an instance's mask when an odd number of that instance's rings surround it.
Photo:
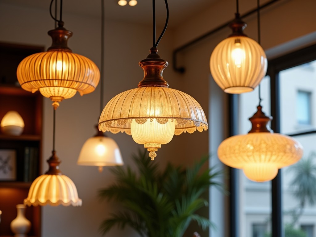
<path fill-rule="evenodd" d="M 270 78 L 261 82 L 262 109 L 270 115 Z M 240 94 L 238 134 L 251 129 L 249 118 L 257 111 L 258 87 L 249 93 Z M 271 233 L 271 182 L 256 183 L 247 179 L 239 170 L 240 234 L 242 237 L 267 237 Z"/>

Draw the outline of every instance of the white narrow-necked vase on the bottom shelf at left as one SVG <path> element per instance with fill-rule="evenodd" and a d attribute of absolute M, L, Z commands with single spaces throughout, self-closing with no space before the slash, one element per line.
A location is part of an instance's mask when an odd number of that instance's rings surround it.
<path fill-rule="evenodd" d="M 17 216 L 10 224 L 15 237 L 26 237 L 31 229 L 31 222 L 25 217 L 25 209 L 26 206 L 23 204 L 16 205 Z"/>

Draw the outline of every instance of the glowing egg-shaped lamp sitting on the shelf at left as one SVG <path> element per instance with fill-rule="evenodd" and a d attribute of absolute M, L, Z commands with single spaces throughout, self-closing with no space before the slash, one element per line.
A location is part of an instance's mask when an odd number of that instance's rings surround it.
<path fill-rule="evenodd" d="M 24 129 L 24 121 L 16 111 L 9 111 L 1 120 L 1 131 L 7 135 L 20 136 Z"/>

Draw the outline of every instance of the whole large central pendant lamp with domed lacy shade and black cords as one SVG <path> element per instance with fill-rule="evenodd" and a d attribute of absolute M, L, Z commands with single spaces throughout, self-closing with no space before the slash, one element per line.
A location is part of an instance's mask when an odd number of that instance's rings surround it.
<path fill-rule="evenodd" d="M 155 42 L 155 0 L 153 0 L 153 47 L 146 59 L 139 62 L 144 78 L 138 88 L 122 92 L 112 98 L 103 109 L 99 130 L 112 133 L 125 132 L 136 143 L 144 144 L 154 160 L 161 144 L 171 141 L 173 135 L 207 130 L 208 124 L 202 107 L 188 94 L 169 88 L 162 72 L 168 63 L 158 55 L 157 46 L 168 23 Z"/>

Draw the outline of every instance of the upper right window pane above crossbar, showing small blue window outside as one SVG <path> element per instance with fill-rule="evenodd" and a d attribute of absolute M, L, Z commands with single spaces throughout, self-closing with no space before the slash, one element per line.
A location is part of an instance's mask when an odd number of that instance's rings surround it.
<path fill-rule="evenodd" d="M 316 61 L 279 73 L 281 133 L 315 130 Z"/>

